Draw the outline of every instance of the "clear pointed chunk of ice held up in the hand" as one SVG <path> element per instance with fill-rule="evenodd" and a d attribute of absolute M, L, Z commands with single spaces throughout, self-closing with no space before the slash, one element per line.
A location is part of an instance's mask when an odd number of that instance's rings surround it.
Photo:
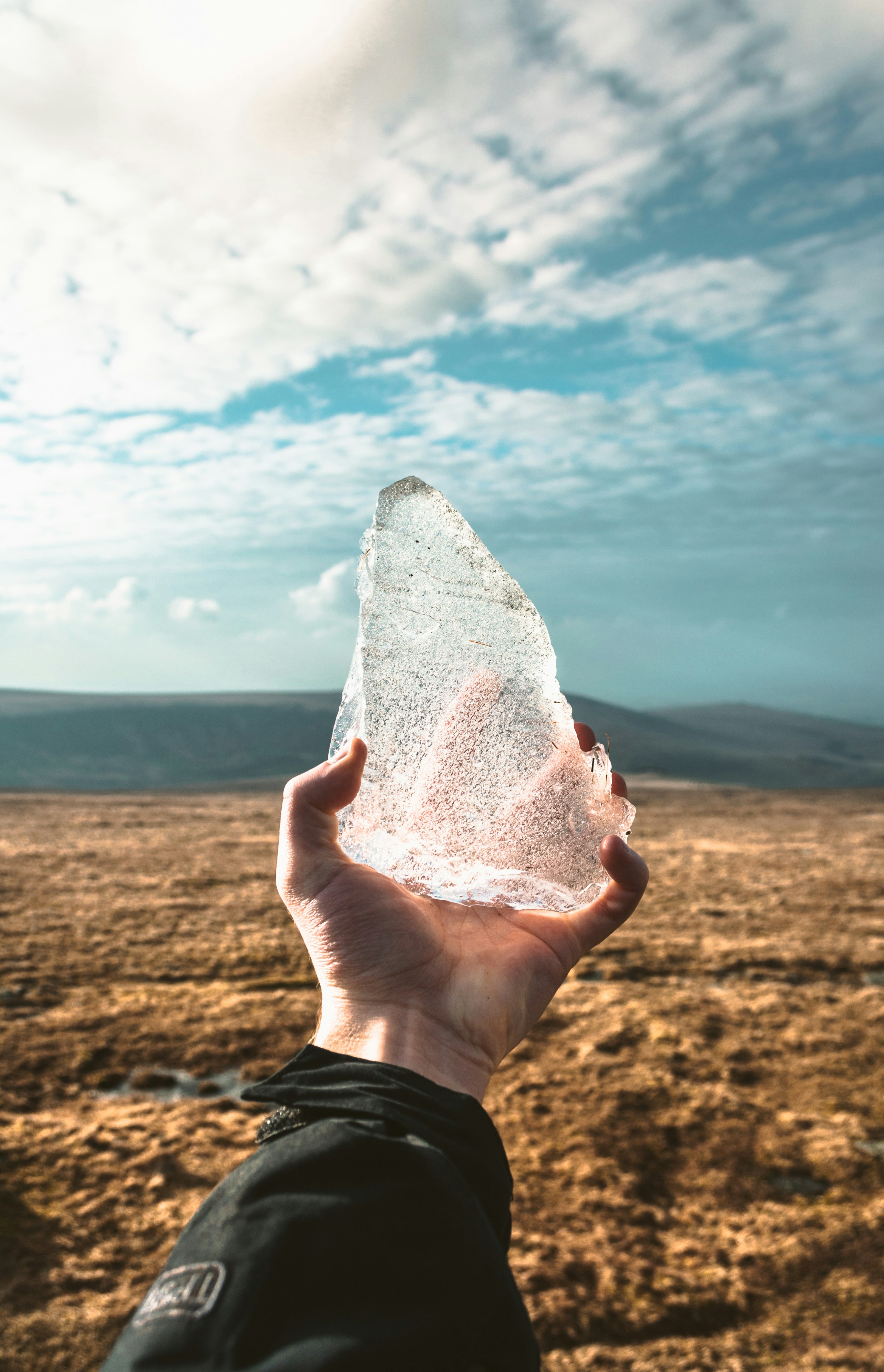
<path fill-rule="evenodd" d="M 577 910 L 607 885 L 605 834 L 634 808 L 582 753 L 546 626 L 445 497 L 408 476 L 377 497 L 360 628 L 329 756 L 358 735 L 340 815 L 357 862 L 445 900 Z"/>

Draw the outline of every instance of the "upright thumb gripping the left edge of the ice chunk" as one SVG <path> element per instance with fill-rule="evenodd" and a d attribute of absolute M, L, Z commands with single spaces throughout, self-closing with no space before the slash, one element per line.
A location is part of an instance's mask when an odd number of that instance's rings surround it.
<path fill-rule="evenodd" d="M 287 783 L 276 863 L 276 888 L 287 906 L 310 900 L 350 862 L 338 842 L 336 812 L 356 799 L 367 756 L 354 738 L 334 761 Z"/>

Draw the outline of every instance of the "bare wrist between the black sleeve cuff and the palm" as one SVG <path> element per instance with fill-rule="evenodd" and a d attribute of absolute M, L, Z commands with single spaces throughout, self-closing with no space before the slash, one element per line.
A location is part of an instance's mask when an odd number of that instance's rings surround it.
<path fill-rule="evenodd" d="M 386 1006 L 323 992 L 317 1048 L 388 1062 L 482 1102 L 494 1063 L 419 1006 Z"/>

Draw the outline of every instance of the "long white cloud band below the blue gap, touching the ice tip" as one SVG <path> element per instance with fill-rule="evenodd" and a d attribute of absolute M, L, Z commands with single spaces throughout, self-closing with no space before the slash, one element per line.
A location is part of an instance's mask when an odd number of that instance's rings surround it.
<path fill-rule="evenodd" d="M 717 375 L 674 355 L 629 386 L 556 394 L 458 380 L 421 353 L 402 362 L 402 391 L 387 413 L 298 423 L 264 412 L 226 428 L 152 429 L 126 462 L 107 456 L 100 420 L 78 418 L 73 435 L 62 420 L 32 421 L 27 461 L 0 457 L 0 488 L 15 490 L 15 505 L 38 510 L 38 520 L 0 512 L 0 565 L 16 580 L 26 568 L 43 579 L 71 558 L 135 560 L 156 575 L 184 557 L 214 568 L 232 547 L 262 549 L 279 565 L 294 536 L 328 549 L 331 563 L 349 539 L 356 552 L 377 490 L 409 472 L 476 517 L 523 528 L 566 508 L 589 517 L 638 491 L 708 488 L 723 466 L 741 473 L 741 488 L 760 493 L 781 469 L 813 465 L 833 434 L 858 458 L 863 450 L 874 392 L 846 391 L 814 340 L 822 347 L 836 314 L 843 328 L 852 316 L 855 328 L 870 329 L 879 306 L 869 300 L 863 314 L 839 283 L 825 277 L 817 313 L 803 318 L 803 332 L 795 324 L 807 343 L 795 375 L 782 377 L 760 362 Z M 791 339 L 774 336 L 770 346 Z M 349 563 L 336 560 L 292 593 L 302 623 L 321 623 L 351 594 L 347 575 Z M 225 615 L 228 598 L 225 591 Z M 181 600 L 199 613 L 195 597 Z"/>

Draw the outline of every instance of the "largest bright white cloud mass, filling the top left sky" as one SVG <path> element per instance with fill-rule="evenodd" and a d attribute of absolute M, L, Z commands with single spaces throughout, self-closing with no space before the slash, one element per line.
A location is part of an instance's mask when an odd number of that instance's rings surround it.
<path fill-rule="evenodd" d="M 818 145 L 846 88 L 880 114 L 881 38 L 865 0 L 7 5 L 0 381 L 19 414 L 199 412 L 340 350 L 530 324 L 533 274 L 685 165 L 728 195 L 777 155 L 766 125 Z M 571 316 L 614 307 L 571 289 Z"/>

